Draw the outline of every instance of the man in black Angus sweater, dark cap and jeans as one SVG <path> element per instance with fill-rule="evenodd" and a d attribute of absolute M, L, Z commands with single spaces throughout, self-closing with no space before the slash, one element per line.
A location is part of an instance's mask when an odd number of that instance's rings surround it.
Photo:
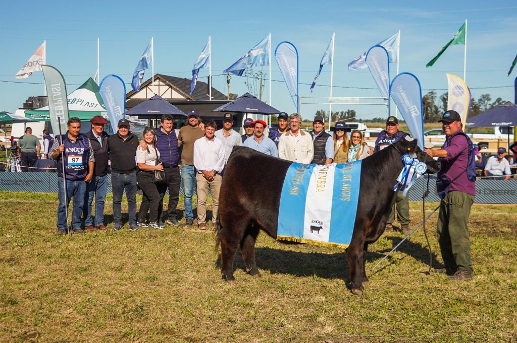
<path fill-rule="evenodd" d="M 113 187 L 112 230 L 122 226 L 122 194 L 126 191 L 128 201 L 129 230 L 136 231 L 136 148 L 138 137 L 129 130 L 129 120 L 120 119 L 117 133 L 108 137 L 108 153 L 111 161 L 111 184 Z"/>

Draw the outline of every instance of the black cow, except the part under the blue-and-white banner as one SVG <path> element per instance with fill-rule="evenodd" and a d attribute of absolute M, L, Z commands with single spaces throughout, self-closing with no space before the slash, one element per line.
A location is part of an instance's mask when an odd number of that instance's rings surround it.
<path fill-rule="evenodd" d="M 391 188 L 397 183 L 403 168 L 402 155 L 406 153 L 415 153 L 419 161 L 427 164 L 429 173 L 438 171 L 438 162 L 421 151 L 416 140 L 400 140 L 362 160 L 354 232 L 346 250 L 354 294 L 362 294 L 362 283 L 368 282 L 364 270 L 368 244 L 384 232 L 396 195 Z M 249 148 L 233 149 L 221 185 L 216 226 L 223 279 L 235 280 L 233 262 L 238 246 L 248 273 L 261 276 L 256 266 L 255 240 L 261 228 L 277 237 L 280 194 L 290 165 L 289 161 Z"/>

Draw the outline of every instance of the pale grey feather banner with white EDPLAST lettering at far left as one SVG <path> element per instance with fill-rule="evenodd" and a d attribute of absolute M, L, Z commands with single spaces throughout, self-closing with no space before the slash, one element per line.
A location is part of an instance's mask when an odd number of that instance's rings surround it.
<path fill-rule="evenodd" d="M 67 131 L 68 101 L 63 74 L 56 68 L 43 64 L 43 77 L 49 97 L 50 124 L 54 135 Z"/>

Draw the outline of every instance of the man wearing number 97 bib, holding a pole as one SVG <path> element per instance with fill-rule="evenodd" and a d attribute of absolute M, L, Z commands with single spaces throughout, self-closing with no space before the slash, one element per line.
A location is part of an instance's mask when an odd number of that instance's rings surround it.
<path fill-rule="evenodd" d="M 81 120 L 75 117 L 70 118 L 67 125 L 68 131 L 64 135 L 56 136 L 49 152 L 49 156 L 57 162 L 58 235 L 65 235 L 68 232 L 66 209 L 71 198 L 73 198 L 72 232 L 84 234 L 84 230 L 81 229 L 84 194 L 86 193 L 86 183 L 89 183 L 94 176 L 95 165 L 92 145 L 88 138 L 81 134 Z M 66 183 L 66 189 L 64 183 Z"/>

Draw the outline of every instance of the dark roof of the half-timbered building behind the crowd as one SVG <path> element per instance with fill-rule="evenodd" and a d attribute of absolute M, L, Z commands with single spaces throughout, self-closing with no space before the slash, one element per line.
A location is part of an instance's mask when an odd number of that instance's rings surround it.
<path fill-rule="evenodd" d="M 183 93 L 187 100 L 209 100 L 208 96 L 208 85 L 206 82 L 197 79 L 197 83 L 195 85 L 194 92 L 190 95 L 190 84 L 192 79 L 190 78 L 181 78 L 176 76 L 169 76 L 163 74 L 156 74 L 155 80 L 157 78 L 162 79 L 165 83 L 171 85 L 176 91 L 179 93 Z M 147 79 L 142 83 L 141 88 L 146 87 L 147 85 L 152 83 L 152 78 Z M 130 99 L 130 97 L 135 93 L 134 90 L 131 90 L 126 94 L 126 99 Z M 165 99 L 169 100 L 169 99 Z M 212 87 L 212 100 L 226 100 L 226 95 Z M 129 108 L 129 106 L 126 106 Z"/>

